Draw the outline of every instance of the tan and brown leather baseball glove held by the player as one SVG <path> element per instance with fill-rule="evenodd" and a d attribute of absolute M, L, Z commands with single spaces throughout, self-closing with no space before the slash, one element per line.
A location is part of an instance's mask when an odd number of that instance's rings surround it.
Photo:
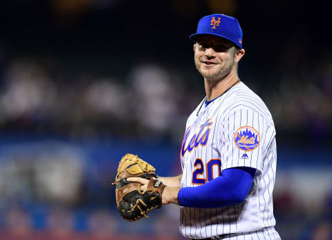
<path fill-rule="evenodd" d="M 141 190 L 141 183 L 129 182 L 129 177 L 140 177 L 149 180 L 147 190 Z M 156 169 L 137 155 L 124 155 L 116 175 L 116 203 L 123 219 L 137 221 L 147 213 L 162 205 L 161 195 L 166 187 L 156 176 Z"/>

